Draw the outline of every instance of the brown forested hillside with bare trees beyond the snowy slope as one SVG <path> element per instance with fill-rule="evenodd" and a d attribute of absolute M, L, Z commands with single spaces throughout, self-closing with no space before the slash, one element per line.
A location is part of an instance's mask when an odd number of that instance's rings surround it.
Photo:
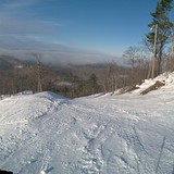
<path fill-rule="evenodd" d="M 24 90 L 38 91 L 38 64 L 36 61 L 21 61 L 0 57 L 0 95 L 13 95 Z M 53 91 L 69 98 L 97 92 L 114 92 L 119 88 L 135 85 L 147 76 L 147 70 L 137 66 L 134 72 L 116 62 L 86 65 L 46 65 L 40 61 L 42 90 Z"/>

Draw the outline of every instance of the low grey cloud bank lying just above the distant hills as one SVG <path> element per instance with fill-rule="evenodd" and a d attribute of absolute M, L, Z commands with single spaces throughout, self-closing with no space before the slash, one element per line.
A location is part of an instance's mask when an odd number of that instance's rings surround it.
<path fill-rule="evenodd" d="M 102 53 L 77 52 L 77 51 L 59 51 L 59 50 L 39 50 L 39 49 L 0 49 L 0 54 L 8 54 L 21 60 L 34 60 L 30 53 L 41 53 L 41 62 L 52 64 L 91 64 L 104 63 L 109 60 L 117 60 L 114 57 Z M 119 62 L 120 63 L 120 62 Z"/>

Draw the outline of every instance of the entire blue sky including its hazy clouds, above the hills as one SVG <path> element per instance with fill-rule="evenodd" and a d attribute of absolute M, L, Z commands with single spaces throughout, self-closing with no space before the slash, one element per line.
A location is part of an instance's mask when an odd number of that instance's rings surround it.
<path fill-rule="evenodd" d="M 158 0 L 0 0 L 0 51 L 46 61 L 121 59 L 149 32 Z"/>

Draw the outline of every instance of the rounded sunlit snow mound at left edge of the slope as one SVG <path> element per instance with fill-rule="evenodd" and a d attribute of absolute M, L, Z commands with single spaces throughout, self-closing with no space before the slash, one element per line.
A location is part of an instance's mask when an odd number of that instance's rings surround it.
<path fill-rule="evenodd" d="M 0 125 L 25 124 L 33 119 L 42 117 L 54 108 L 69 102 L 69 99 L 48 91 L 11 96 L 0 100 L 0 105 L 3 105 Z"/>

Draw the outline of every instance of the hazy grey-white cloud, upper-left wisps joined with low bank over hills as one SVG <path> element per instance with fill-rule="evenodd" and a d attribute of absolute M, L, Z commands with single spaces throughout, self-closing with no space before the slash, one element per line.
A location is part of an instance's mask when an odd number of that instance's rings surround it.
<path fill-rule="evenodd" d="M 62 64 L 95 63 L 114 59 L 100 52 L 82 51 L 53 44 L 57 40 L 59 42 L 58 28 L 64 25 L 52 18 L 32 17 L 25 13 L 25 9 L 32 9 L 38 2 L 41 1 L 11 0 L 0 5 L 0 54 L 32 59 L 29 53 L 39 52 L 44 54 L 42 61 Z M 37 12 L 34 10 L 33 15 L 35 13 Z"/>

